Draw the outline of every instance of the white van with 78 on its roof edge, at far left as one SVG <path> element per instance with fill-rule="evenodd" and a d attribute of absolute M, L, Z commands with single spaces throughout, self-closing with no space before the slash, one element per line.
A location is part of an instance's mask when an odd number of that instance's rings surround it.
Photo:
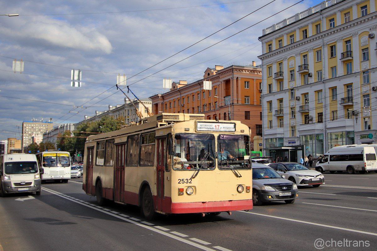
<path fill-rule="evenodd" d="M 34 154 L 0 155 L 0 196 L 20 192 L 40 195 L 41 173 Z"/>

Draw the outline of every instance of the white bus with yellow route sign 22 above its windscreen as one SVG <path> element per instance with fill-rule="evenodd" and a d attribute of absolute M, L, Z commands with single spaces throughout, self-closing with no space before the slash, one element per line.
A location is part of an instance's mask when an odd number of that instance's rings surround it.
<path fill-rule="evenodd" d="M 70 180 L 70 154 L 58 150 L 48 150 L 35 154 L 38 165 L 43 167 L 41 182 L 55 180 L 67 183 Z"/>

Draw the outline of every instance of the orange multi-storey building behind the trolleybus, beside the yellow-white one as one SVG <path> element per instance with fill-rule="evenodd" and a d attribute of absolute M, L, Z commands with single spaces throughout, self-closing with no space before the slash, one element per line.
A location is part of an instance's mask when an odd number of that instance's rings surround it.
<path fill-rule="evenodd" d="M 211 81 L 212 90 L 203 90 L 203 81 Z M 204 113 L 206 119 L 239 120 L 251 128 L 253 139 L 262 136 L 261 82 L 262 69 L 255 62 L 226 68 L 215 65 L 207 68 L 199 81 L 173 82 L 167 93 L 150 97 L 152 111 Z"/>

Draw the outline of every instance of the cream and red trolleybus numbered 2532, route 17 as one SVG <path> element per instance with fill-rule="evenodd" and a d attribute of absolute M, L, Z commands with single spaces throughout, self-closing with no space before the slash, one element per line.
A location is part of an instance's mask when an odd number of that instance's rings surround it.
<path fill-rule="evenodd" d="M 239 121 L 160 113 L 138 125 L 91 135 L 83 190 L 156 213 L 217 215 L 253 207 L 250 131 Z"/>

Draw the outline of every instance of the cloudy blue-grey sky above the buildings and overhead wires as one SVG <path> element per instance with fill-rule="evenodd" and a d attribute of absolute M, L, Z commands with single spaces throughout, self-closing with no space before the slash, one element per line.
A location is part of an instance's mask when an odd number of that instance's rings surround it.
<path fill-rule="evenodd" d="M 96 110 L 107 110 L 109 104 L 121 104 L 123 94 L 110 88 L 116 83 L 118 73 L 126 74 L 127 84 L 132 84 L 299 0 L 276 0 L 190 49 L 133 76 L 270 1 L 1 1 L 0 14 L 20 16 L 0 16 L 0 139 L 20 138 L 17 126 L 21 132 L 24 120 L 52 118 L 54 124 L 75 123 L 83 120 L 84 115 L 93 116 Z M 204 70 L 215 64 L 247 65 L 251 61 L 260 64 L 257 56 L 261 54 L 261 44 L 257 38 L 262 35 L 262 29 L 319 2 L 305 0 L 136 82 L 132 90 L 139 98 L 147 98 L 164 92 L 164 77 L 190 83 L 202 78 Z M 184 8 L 188 6 L 197 7 Z M 12 72 L 13 59 L 25 60 L 22 74 Z M 70 87 L 72 68 L 82 70 L 81 88 Z M 83 104 L 87 108 L 73 110 L 74 106 Z M 78 113 L 69 113 L 70 110 Z"/>

